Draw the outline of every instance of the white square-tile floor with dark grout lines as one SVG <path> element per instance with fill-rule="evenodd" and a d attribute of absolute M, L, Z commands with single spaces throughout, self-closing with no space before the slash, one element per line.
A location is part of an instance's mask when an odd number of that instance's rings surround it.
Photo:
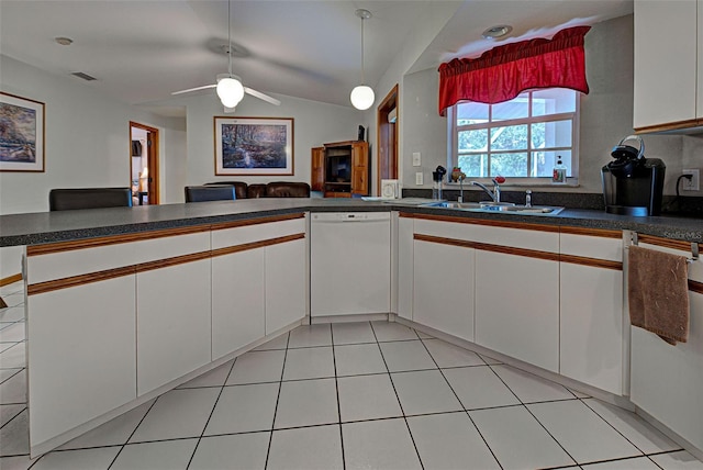
<path fill-rule="evenodd" d="M 395 323 L 303 326 L 40 459 L 0 288 L 0 468 L 703 469 L 638 416 Z"/>

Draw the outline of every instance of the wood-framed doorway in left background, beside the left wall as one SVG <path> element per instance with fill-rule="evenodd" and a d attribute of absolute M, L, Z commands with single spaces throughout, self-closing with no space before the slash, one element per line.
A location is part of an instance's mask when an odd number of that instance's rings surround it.
<path fill-rule="evenodd" d="M 130 121 L 130 187 L 134 205 L 158 204 L 158 128 Z"/>

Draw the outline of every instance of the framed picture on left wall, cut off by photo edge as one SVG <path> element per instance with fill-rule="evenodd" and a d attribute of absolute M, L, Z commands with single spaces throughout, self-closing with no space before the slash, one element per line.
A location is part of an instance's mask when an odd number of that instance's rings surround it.
<path fill-rule="evenodd" d="M 44 171 L 44 103 L 0 91 L 0 171 Z"/>

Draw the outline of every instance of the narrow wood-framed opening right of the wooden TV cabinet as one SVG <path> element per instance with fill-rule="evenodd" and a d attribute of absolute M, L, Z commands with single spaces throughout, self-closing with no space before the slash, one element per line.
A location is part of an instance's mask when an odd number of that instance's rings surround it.
<path fill-rule="evenodd" d="M 379 191 L 382 179 L 398 179 L 399 116 L 398 83 L 395 83 L 377 110 L 378 171 L 376 175 L 378 175 Z"/>

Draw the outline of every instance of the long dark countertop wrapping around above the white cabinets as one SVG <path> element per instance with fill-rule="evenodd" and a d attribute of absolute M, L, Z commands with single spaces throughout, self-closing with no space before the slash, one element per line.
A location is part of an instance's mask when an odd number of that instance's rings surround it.
<path fill-rule="evenodd" d="M 632 230 L 687 242 L 703 243 L 703 220 L 671 216 L 632 217 L 603 211 L 566 209 L 558 215 L 480 213 L 454 209 L 422 208 L 400 202 L 360 199 L 252 199 L 192 204 L 143 205 L 81 211 L 37 212 L 0 216 L 0 246 L 38 245 L 107 235 L 148 232 L 236 220 L 289 214 L 300 211 L 390 211 L 455 215 L 547 225 Z"/>

